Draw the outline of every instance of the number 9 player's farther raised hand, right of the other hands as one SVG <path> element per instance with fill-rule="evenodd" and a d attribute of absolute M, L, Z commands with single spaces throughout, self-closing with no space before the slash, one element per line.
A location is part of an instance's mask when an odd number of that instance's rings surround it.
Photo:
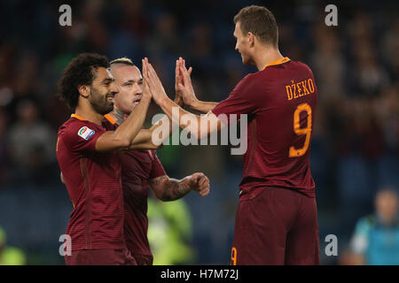
<path fill-rule="evenodd" d="M 182 94 L 184 104 L 192 107 L 194 103 L 198 102 L 198 99 L 194 93 L 194 88 L 192 87 L 192 67 L 187 70 L 185 66 L 185 60 L 182 57 L 179 57 L 178 62 L 180 81 L 176 82 L 176 90 Z"/>

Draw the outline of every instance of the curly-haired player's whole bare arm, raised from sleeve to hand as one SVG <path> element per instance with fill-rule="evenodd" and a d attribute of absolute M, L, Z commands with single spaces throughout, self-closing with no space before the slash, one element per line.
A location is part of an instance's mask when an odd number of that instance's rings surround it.
<path fill-rule="evenodd" d="M 143 73 L 145 72 L 145 66 L 143 66 Z M 152 94 L 148 87 L 148 84 L 144 82 L 143 97 L 140 103 L 133 112 L 129 114 L 121 126 L 115 131 L 107 131 L 102 134 L 96 142 L 96 150 L 107 151 L 107 150 L 122 150 L 129 149 L 138 132 L 145 122 L 145 115 L 148 110 L 148 106 L 151 103 Z"/>

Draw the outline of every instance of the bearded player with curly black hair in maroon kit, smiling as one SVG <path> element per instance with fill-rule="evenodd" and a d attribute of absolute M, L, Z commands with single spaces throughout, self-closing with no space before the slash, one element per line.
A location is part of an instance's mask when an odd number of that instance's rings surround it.
<path fill-rule="evenodd" d="M 119 150 L 137 149 L 152 96 L 144 86 L 140 105 L 114 131 L 102 126 L 119 92 L 104 56 L 83 53 L 66 66 L 59 96 L 73 111 L 59 127 L 57 159 L 74 210 L 66 228 L 72 255 L 66 264 L 137 264 L 123 234 Z"/>

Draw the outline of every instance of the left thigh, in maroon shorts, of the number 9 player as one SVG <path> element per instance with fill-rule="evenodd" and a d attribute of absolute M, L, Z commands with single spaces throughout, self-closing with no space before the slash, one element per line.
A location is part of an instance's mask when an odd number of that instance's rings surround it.
<path fill-rule="evenodd" d="M 237 210 L 231 264 L 285 264 L 286 233 L 296 212 L 293 192 L 265 188 L 240 201 Z"/>

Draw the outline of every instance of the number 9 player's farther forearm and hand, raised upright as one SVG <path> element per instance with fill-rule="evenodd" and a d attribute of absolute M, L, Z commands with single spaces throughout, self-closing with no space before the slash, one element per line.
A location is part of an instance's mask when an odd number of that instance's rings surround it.
<path fill-rule="evenodd" d="M 187 70 L 184 58 L 179 57 L 179 59 L 176 60 L 176 93 L 179 93 L 180 96 L 183 97 L 184 104 L 191 109 L 200 111 L 204 114 L 212 111 L 218 103 L 198 100 L 197 96 L 195 96 L 194 88 L 192 87 L 191 74 L 192 67 Z"/>

